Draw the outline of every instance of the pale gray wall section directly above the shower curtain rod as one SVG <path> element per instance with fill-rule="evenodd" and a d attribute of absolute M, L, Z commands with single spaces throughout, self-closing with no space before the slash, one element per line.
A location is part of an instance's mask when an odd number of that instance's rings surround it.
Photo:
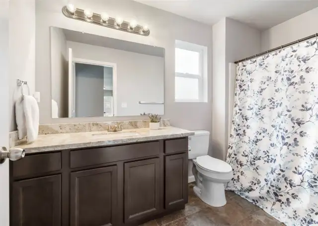
<path fill-rule="evenodd" d="M 262 32 L 262 51 L 318 33 L 318 7 Z"/>

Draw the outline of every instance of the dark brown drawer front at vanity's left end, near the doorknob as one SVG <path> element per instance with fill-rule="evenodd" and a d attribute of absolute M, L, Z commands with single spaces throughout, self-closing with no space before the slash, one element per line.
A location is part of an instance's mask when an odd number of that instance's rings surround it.
<path fill-rule="evenodd" d="M 61 153 L 50 153 L 25 156 L 19 161 L 12 162 L 13 176 L 41 174 L 61 169 Z"/>

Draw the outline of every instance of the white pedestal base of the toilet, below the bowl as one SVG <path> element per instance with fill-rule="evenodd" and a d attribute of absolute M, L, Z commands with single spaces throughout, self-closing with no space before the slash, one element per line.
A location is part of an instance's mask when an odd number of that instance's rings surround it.
<path fill-rule="evenodd" d="M 203 202 L 210 206 L 222 207 L 227 204 L 224 183 L 203 180 L 202 188 L 194 186 L 193 191 Z"/>

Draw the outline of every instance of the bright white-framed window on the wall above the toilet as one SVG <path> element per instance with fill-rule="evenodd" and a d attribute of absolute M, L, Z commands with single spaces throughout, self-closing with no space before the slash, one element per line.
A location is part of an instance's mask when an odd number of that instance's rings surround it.
<path fill-rule="evenodd" d="M 207 47 L 175 41 L 175 102 L 207 102 Z"/>

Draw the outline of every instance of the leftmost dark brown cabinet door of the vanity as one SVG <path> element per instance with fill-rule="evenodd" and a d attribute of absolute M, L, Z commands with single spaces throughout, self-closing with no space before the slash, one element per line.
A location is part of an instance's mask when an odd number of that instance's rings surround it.
<path fill-rule="evenodd" d="M 61 226 L 61 175 L 12 183 L 12 226 Z"/>

